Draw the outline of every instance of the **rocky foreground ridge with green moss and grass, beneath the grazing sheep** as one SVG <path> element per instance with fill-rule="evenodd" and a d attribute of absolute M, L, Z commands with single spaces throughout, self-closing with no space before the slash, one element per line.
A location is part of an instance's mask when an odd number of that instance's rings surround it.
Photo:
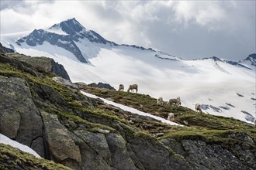
<path fill-rule="evenodd" d="M 186 107 L 160 106 L 145 94 L 73 84 L 55 78 L 50 69 L 41 70 L 31 64 L 36 58 L 27 57 L 0 54 L 0 133 L 43 158 L 72 169 L 256 168 L 256 130 L 251 124 L 196 114 Z M 42 60 L 50 68 L 48 59 Z M 175 122 L 185 127 L 131 114 L 79 90 L 160 117 L 173 112 Z M 9 168 L 5 158 L 0 162 Z M 31 160 L 24 167 L 33 164 Z"/>

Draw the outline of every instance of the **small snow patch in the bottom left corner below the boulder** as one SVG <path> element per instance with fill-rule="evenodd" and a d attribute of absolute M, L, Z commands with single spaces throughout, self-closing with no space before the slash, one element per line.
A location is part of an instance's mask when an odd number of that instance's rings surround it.
<path fill-rule="evenodd" d="M 0 134 L 0 143 L 5 144 L 5 145 L 11 145 L 14 148 L 19 148 L 21 151 L 28 152 L 29 154 L 32 154 L 36 156 L 37 158 L 41 158 L 40 155 L 36 153 L 32 148 L 29 148 L 26 145 L 22 145 L 17 141 L 13 141 L 12 139 L 6 137 L 3 134 Z"/>

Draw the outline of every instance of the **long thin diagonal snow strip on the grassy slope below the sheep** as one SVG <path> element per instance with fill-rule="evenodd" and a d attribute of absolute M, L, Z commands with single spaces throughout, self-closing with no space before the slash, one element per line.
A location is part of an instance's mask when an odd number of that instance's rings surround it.
<path fill-rule="evenodd" d="M 162 118 L 162 117 L 157 117 L 157 116 L 154 116 L 154 115 L 152 115 L 152 114 L 147 114 L 147 113 L 145 113 L 145 112 L 143 112 L 143 111 L 134 109 L 134 108 L 132 108 L 132 107 L 127 107 L 127 106 L 124 106 L 123 104 L 117 104 L 117 103 L 115 103 L 115 102 L 113 102 L 113 101 L 106 100 L 106 99 L 104 99 L 104 98 L 102 98 L 102 97 L 97 97 L 97 96 L 95 96 L 95 95 L 92 94 L 92 93 L 86 93 L 85 91 L 81 91 L 81 93 L 83 93 L 85 96 L 88 96 L 88 97 L 99 98 L 99 99 L 103 100 L 106 104 L 111 104 L 112 106 L 119 107 L 120 109 L 129 111 L 129 112 L 131 112 L 131 113 L 133 113 L 133 114 L 139 114 L 139 115 L 141 115 L 141 116 L 152 117 L 152 118 L 154 118 L 155 120 L 161 121 L 161 122 L 163 122 L 163 123 L 165 123 L 165 124 L 171 124 L 171 125 L 182 126 L 181 124 L 176 124 L 175 122 L 168 121 L 168 120 L 166 120 L 166 119 L 164 119 L 164 118 Z"/>

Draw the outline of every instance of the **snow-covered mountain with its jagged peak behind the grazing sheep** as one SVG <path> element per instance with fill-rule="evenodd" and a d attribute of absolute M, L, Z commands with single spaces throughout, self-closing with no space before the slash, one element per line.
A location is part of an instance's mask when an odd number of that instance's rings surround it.
<path fill-rule="evenodd" d="M 217 57 L 184 60 L 153 49 L 117 45 L 75 19 L 28 36 L 16 35 L 2 35 L 5 45 L 11 44 L 19 53 L 53 58 L 74 82 L 110 83 L 116 88 L 123 83 L 126 89 L 137 83 L 139 93 L 166 101 L 179 96 L 185 107 L 193 109 L 200 103 L 209 114 L 254 120 L 255 66 L 248 59 L 239 63 Z"/>

